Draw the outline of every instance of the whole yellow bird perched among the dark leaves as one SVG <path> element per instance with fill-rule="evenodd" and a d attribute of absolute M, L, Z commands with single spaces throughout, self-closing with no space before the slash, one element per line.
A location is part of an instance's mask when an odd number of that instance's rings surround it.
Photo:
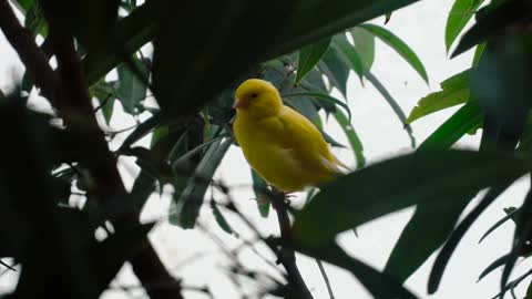
<path fill-rule="evenodd" d="M 235 93 L 236 141 L 249 165 L 277 189 L 319 186 L 348 169 L 330 152 L 318 128 L 283 104 L 269 82 L 249 79 Z"/>

